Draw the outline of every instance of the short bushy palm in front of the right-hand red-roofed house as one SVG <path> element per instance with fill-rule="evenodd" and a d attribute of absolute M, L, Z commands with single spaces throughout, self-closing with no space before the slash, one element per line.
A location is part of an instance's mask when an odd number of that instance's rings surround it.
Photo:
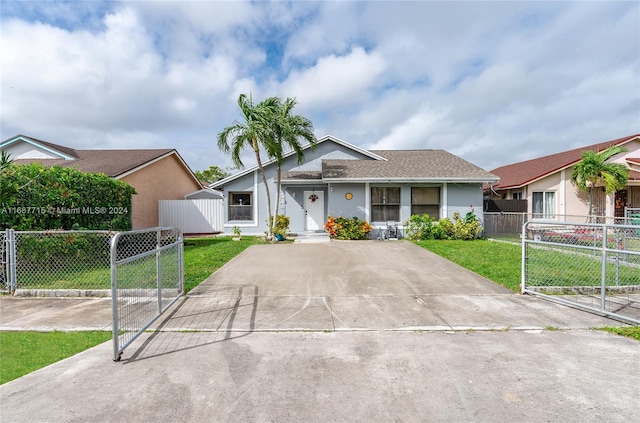
<path fill-rule="evenodd" d="M 624 153 L 627 149 L 611 146 L 601 152 L 584 151 L 573 169 L 571 182 L 581 191 L 589 193 L 589 216 L 592 215 L 593 188 L 601 186 L 606 194 L 611 194 L 627 185 L 629 168 L 620 163 L 607 163 L 616 154 Z"/>

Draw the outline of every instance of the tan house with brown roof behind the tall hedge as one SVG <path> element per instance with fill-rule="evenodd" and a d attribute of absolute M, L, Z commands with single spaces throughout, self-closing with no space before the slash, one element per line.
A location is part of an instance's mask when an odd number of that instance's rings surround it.
<path fill-rule="evenodd" d="M 182 200 L 203 188 L 175 149 L 76 150 L 16 135 L 2 141 L 0 151 L 15 164 L 74 167 L 128 183 L 137 192 L 131 200 L 133 229 L 158 226 L 159 200 Z"/>

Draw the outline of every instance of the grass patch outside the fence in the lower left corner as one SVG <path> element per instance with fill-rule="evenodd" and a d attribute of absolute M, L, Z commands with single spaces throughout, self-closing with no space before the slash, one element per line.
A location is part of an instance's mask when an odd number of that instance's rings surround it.
<path fill-rule="evenodd" d="M 111 332 L 0 332 L 0 384 L 111 339 Z"/>

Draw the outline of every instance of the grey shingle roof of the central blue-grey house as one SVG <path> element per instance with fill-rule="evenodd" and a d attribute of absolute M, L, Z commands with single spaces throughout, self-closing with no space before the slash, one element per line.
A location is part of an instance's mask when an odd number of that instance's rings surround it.
<path fill-rule="evenodd" d="M 372 150 L 382 160 L 323 160 L 323 179 L 495 181 L 497 177 L 444 150 Z"/>

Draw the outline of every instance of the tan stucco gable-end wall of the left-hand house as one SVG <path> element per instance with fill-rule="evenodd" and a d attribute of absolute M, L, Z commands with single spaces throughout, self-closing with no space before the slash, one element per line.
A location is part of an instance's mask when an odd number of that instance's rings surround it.
<path fill-rule="evenodd" d="M 133 229 L 158 226 L 158 200 L 182 200 L 201 189 L 173 154 L 120 180 L 138 193 L 131 200 Z"/>

